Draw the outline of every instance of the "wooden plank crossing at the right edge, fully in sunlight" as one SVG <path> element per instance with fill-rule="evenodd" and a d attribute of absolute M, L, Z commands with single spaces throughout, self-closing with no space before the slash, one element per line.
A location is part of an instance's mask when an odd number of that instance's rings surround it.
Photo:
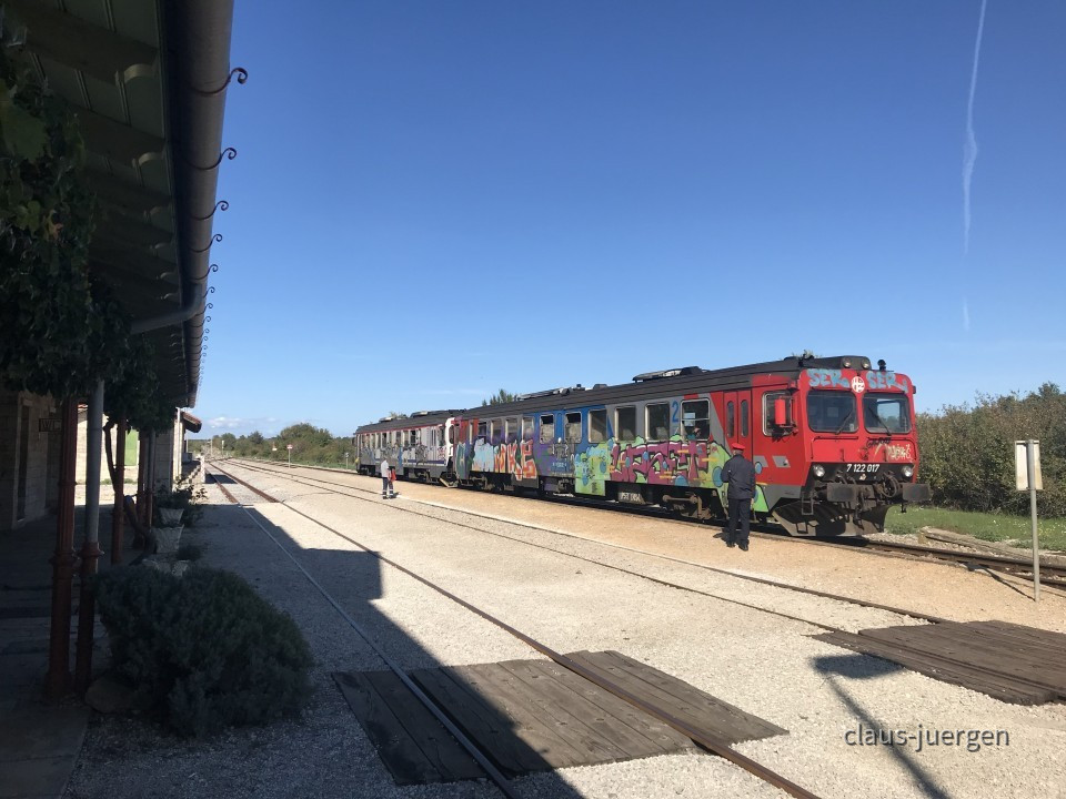
<path fill-rule="evenodd" d="M 1066 635 L 1060 633 L 1007 621 L 943 621 L 814 638 L 1006 702 L 1066 700 Z"/>

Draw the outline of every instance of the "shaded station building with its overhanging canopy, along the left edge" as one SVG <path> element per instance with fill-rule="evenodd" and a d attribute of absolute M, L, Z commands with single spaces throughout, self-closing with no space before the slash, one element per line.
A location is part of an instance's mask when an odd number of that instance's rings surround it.
<path fill-rule="evenodd" d="M 141 458 L 150 453 L 154 465 L 154 471 L 134 469 L 152 475 L 142 488 L 167 487 L 180 474 L 185 432 L 200 429 L 200 421 L 180 409 L 197 402 L 213 291 L 209 277 L 218 269 L 211 250 L 222 237 L 215 231 L 219 212 L 228 208 L 217 196 L 219 171 L 237 155 L 223 148 L 223 111 L 228 93 L 248 77 L 230 64 L 233 2 L 2 4 L 4 54 L 67 104 L 86 144 L 98 201 L 88 267 L 132 317 L 131 333 L 153 345 L 159 387 L 179 408 L 172 431 L 134 447 Z M 49 688 L 56 695 L 70 682 L 62 638 L 69 638 L 77 553 L 84 570 L 95 547 L 94 540 L 84 546 L 71 540 L 72 481 L 60 473 L 77 447 L 77 481 L 84 482 L 88 473 L 108 478 L 107 465 L 97 469 L 105 393 L 103 384 L 90 397 L 67 398 L 0 387 L 0 548 L 4 532 L 30 529 L 57 515 L 54 559 L 62 567 L 57 566 L 54 579 L 63 585 L 52 590 Z M 81 446 L 79 426 L 88 429 Z M 87 536 L 94 527 L 92 494 L 87 486 Z M 56 629 L 64 617 L 67 630 Z"/>

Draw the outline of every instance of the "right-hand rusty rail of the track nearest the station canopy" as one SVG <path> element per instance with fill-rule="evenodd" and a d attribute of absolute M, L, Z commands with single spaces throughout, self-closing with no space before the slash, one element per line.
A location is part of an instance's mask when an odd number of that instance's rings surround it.
<path fill-rule="evenodd" d="M 219 468 L 218 466 L 214 466 L 214 468 L 217 468 L 218 471 L 222 472 L 222 474 L 225 474 L 225 475 L 229 476 L 231 479 L 234 479 L 234 481 L 237 481 L 238 483 L 241 483 L 242 485 L 248 485 L 247 483 L 244 483 L 243 481 L 241 481 L 239 477 L 237 477 L 237 476 L 234 476 L 234 475 L 231 475 L 231 474 L 228 474 L 225 471 Z M 251 488 L 251 486 L 249 486 L 249 487 Z M 257 489 L 255 493 L 257 493 L 257 494 L 260 494 L 261 496 L 269 496 L 269 495 L 262 494 L 262 493 L 259 492 L 258 489 Z M 279 500 L 278 500 L 278 499 L 274 499 L 273 502 L 279 502 Z M 333 535 L 335 535 L 335 536 L 338 536 L 338 537 L 340 537 L 340 538 L 343 538 L 344 540 L 349 542 L 350 544 L 353 544 L 354 546 L 358 546 L 360 549 L 362 549 L 362 550 L 365 552 L 366 554 L 372 555 L 373 557 L 378 558 L 381 563 L 384 563 L 384 564 L 388 564 L 389 566 L 392 566 L 393 568 L 398 569 L 399 572 L 402 572 L 403 574 L 408 575 L 408 576 L 411 577 L 412 579 L 418 580 L 419 583 L 421 583 L 422 585 L 426 586 L 428 588 L 431 588 L 432 590 L 435 590 L 435 591 L 436 591 L 438 594 L 440 594 L 441 596 L 444 596 L 444 597 L 446 597 L 447 599 L 451 599 L 452 601 L 454 601 L 454 603 L 457 604 L 459 606 L 465 608 L 466 610 L 470 610 L 471 613 L 475 614 L 476 616 L 480 616 L 481 618 L 485 619 L 485 620 L 489 621 L 490 624 L 495 625 L 495 626 L 499 627 L 500 629 L 505 630 L 506 633 L 511 634 L 512 636 L 514 636 L 515 638 L 517 638 L 517 639 L 521 640 L 522 643 L 524 643 L 524 644 L 526 644 L 527 646 L 532 647 L 533 649 L 535 649 L 536 651 L 541 653 L 541 654 L 544 655 L 545 657 L 550 658 L 551 660 L 553 660 L 553 661 L 556 663 L 557 665 L 562 666 L 563 668 L 569 669 L 570 671 L 573 671 L 574 674 L 580 675 L 581 677 L 584 677 L 584 678 L 587 679 L 590 682 L 600 686 L 601 688 L 603 688 L 604 690 L 609 691 L 610 694 L 613 694 L 614 696 L 619 697 L 620 699 L 623 699 L 624 701 L 627 701 L 630 705 L 633 705 L 633 706 L 636 707 L 636 708 L 640 708 L 641 710 L 643 710 L 643 711 L 646 712 L 647 715 L 650 715 L 650 716 L 652 716 L 652 717 L 654 717 L 654 718 L 657 718 L 660 721 L 662 721 L 663 724 L 666 724 L 666 725 L 668 725 L 670 727 L 674 728 L 675 730 L 677 730 L 677 731 L 681 732 L 682 735 L 684 735 L 684 736 L 686 736 L 687 738 L 690 738 L 690 739 L 691 739 L 692 741 L 694 741 L 695 744 L 698 744 L 698 745 L 700 745 L 701 747 L 703 747 L 704 749 L 714 752 L 714 754 L 717 755 L 718 757 L 722 757 L 722 758 L 724 758 L 725 760 L 728 760 L 730 762 L 732 762 L 732 763 L 734 763 L 734 765 L 736 765 L 736 766 L 740 766 L 740 767 L 743 768 L 745 771 L 748 771 L 750 773 L 755 775 L 756 777 L 758 777 L 760 779 L 768 782 L 770 785 L 774 786 L 775 788 L 780 788 L 781 790 L 785 791 L 785 792 L 788 793 L 790 796 L 794 796 L 794 797 L 796 797 L 797 799 L 818 799 L 815 793 L 812 793 L 812 792 L 808 791 L 807 789 L 805 789 L 805 788 L 796 785 L 795 782 L 792 782 L 791 780 L 788 780 L 788 779 L 785 778 L 785 777 L 782 777 L 782 776 L 778 775 L 777 772 L 775 772 L 775 771 L 766 768 L 765 766 L 763 766 L 762 763 L 753 760 L 752 758 L 750 758 L 750 757 L 747 757 L 747 756 L 745 756 L 745 755 L 741 755 L 738 751 L 735 751 L 734 749 L 731 749 L 730 746 L 728 746 L 728 744 L 726 744 L 723 739 L 718 738 L 717 736 L 714 736 L 714 735 L 712 735 L 712 734 L 710 734 L 710 732 L 706 732 L 706 731 L 704 731 L 704 730 L 700 730 L 700 729 L 696 729 L 696 728 L 692 727 L 691 725 L 688 725 L 688 724 L 685 722 L 684 720 L 678 719 L 678 718 L 676 718 L 675 716 L 673 716 L 673 715 L 671 715 L 671 714 L 668 714 L 668 712 L 666 712 L 666 711 L 664 711 L 664 710 L 655 707 L 654 705 L 651 705 L 651 704 L 644 701 L 643 699 L 641 699 L 640 697 L 635 696 L 634 694 L 631 694 L 630 691 L 625 690 L 625 689 L 622 688 L 621 686 L 612 682 L 612 681 L 609 680 L 609 679 L 605 679 L 604 677 L 595 674 L 594 671 L 591 671 L 590 669 L 585 668 L 585 667 L 582 666 L 581 664 L 572 660 L 571 658 L 566 657 L 565 655 L 563 655 L 563 654 L 561 654 L 561 653 L 555 651 L 555 650 L 552 649 L 551 647 L 549 647 L 549 646 L 540 643 L 540 641 L 536 640 L 535 638 L 532 638 L 532 637 L 525 635 L 525 634 L 522 633 L 521 630 L 516 629 L 515 627 L 512 627 L 511 625 L 509 625 L 507 623 L 505 623 L 505 621 L 503 621 L 503 620 L 501 620 L 501 619 L 497 619 L 496 617 L 494 617 L 494 616 L 492 616 L 491 614 L 482 610 L 481 608 L 479 608 L 479 607 L 476 607 L 476 606 L 474 606 L 474 605 L 471 605 L 471 604 L 467 603 L 465 599 L 462 599 L 462 598 L 455 596 L 455 595 L 452 594 L 451 591 L 446 590 L 445 588 L 442 588 L 441 586 L 436 585 L 435 583 L 432 583 L 432 581 L 428 580 L 426 578 L 424 578 L 424 577 L 422 577 L 421 575 L 412 572 L 411 569 L 406 568 L 405 566 L 401 566 L 400 564 L 395 563 L 394 560 L 391 560 L 390 558 L 384 557 L 384 556 L 381 555 L 380 553 L 376 553 L 376 552 L 374 552 L 373 549 L 364 546 L 363 544 L 360 544 L 360 543 L 359 543 L 358 540 L 355 540 L 354 538 L 352 538 L 352 537 L 350 537 L 350 536 L 341 533 L 340 530 L 334 529 L 333 527 L 330 527 L 329 525 L 320 522 L 319 519 L 314 518 L 313 516 L 309 516 L 308 514 L 303 513 L 302 510 L 298 510 L 296 508 L 292 507 L 292 506 L 289 505 L 288 503 L 282 503 L 282 504 L 283 504 L 289 510 L 291 510 L 292 513 L 296 514 L 298 516 L 302 516 L 303 518 L 308 519 L 309 522 L 319 525 L 319 526 L 322 527 L 323 529 L 329 530 L 329 532 L 332 533 Z M 249 514 L 249 515 L 251 515 L 251 514 Z M 292 556 L 290 555 L 290 557 L 292 557 Z M 298 564 L 298 565 L 299 565 L 299 564 Z"/>

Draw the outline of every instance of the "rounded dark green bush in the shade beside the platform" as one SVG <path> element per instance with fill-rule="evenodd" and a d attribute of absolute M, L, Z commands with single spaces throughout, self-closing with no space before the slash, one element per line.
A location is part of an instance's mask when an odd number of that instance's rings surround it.
<path fill-rule="evenodd" d="M 94 590 L 137 706 L 180 735 L 293 716 L 310 694 L 300 629 L 230 572 L 122 567 Z"/>

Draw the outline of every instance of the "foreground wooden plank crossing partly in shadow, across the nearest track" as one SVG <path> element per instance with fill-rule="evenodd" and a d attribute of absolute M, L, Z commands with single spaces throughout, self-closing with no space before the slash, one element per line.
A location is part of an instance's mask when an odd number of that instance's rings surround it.
<path fill-rule="evenodd" d="M 620 653 L 567 657 L 730 742 L 785 732 Z M 551 660 L 446 666 L 410 677 L 507 777 L 695 748 L 686 736 Z M 392 672 L 334 679 L 398 783 L 482 776 Z"/>

